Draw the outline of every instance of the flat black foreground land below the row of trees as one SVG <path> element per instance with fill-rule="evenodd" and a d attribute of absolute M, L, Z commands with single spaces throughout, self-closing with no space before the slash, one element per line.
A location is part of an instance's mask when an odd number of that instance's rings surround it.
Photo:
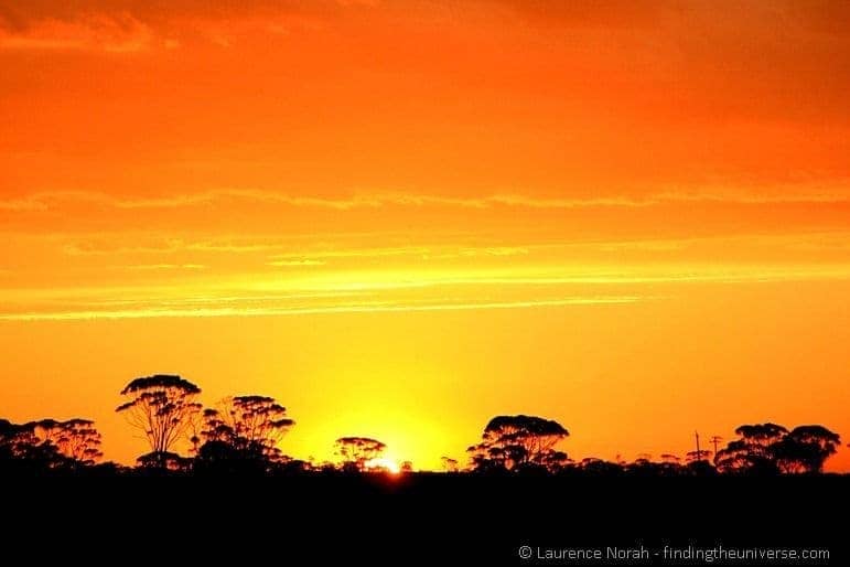
<path fill-rule="evenodd" d="M 850 560 L 850 477 L 559 479 L 420 473 L 259 480 L 7 479 L 2 486 L 3 548 L 25 549 L 26 564 L 33 565 L 79 559 L 110 565 L 138 560 L 847 565 Z M 733 561 L 728 555 L 718 556 L 719 547 L 772 549 L 773 555 L 765 550 L 761 560 Z M 617 548 L 614 556 L 609 548 Z M 714 557 L 695 558 L 697 548 Z M 596 549 L 601 557 L 594 556 Z M 674 549 L 679 549 L 678 556 Z M 811 550 L 819 550 L 819 557 L 801 557 Z"/>

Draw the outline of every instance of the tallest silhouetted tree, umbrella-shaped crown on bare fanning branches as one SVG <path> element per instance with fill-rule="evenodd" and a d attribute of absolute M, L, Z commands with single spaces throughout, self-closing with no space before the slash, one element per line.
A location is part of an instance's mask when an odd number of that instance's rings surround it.
<path fill-rule="evenodd" d="M 195 402 L 198 394 L 201 388 L 180 376 L 158 374 L 136 378 L 121 391 L 129 400 L 116 411 L 127 415 L 130 425 L 143 432 L 151 448 L 149 454 L 164 459 L 201 410 L 201 404 Z M 162 468 L 165 464 L 163 460 Z"/>

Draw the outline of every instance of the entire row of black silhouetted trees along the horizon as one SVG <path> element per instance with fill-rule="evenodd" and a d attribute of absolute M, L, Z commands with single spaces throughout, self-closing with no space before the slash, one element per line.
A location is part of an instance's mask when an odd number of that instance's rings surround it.
<path fill-rule="evenodd" d="M 100 462 L 101 438 L 87 419 L 42 419 L 12 424 L 0 419 L 0 472 L 21 474 L 363 474 L 407 473 L 410 462 L 381 459 L 386 446 L 366 437 L 341 437 L 337 462 L 314 463 L 283 454 L 278 445 L 295 425 L 287 409 L 267 396 L 234 396 L 216 407 L 198 402 L 201 388 L 171 375 L 131 381 L 116 411 L 148 441 L 150 451 L 135 468 Z M 443 457 L 446 473 L 541 475 L 778 475 L 818 474 L 840 446 L 838 434 L 819 425 L 787 429 L 776 424 L 743 425 L 736 439 L 715 451 L 696 449 L 685 459 L 639 456 L 633 462 L 588 458 L 573 461 L 557 449 L 569 431 L 536 416 L 497 416 L 480 442 L 469 447 L 469 462 Z M 189 454 L 175 452 L 189 445 Z"/>

